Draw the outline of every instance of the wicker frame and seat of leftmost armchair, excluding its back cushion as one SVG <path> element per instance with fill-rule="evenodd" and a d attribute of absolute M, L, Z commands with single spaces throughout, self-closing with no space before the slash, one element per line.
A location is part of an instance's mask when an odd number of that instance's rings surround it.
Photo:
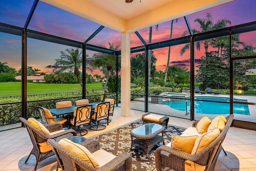
<path fill-rule="evenodd" d="M 28 131 L 28 135 L 33 144 L 33 149 L 28 155 L 28 158 L 26 159 L 25 163 L 28 161 L 31 154 L 34 155 L 36 157 L 36 165 L 35 165 L 34 171 L 36 170 L 38 162 L 43 161 L 44 159 L 52 155 L 55 155 L 52 149 L 49 150 L 48 148 L 47 149 L 45 148 L 44 150 L 42 150 L 42 147 L 40 149 L 40 145 L 42 145 L 43 143 L 47 143 L 47 139 L 50 138 L 50 139 L 54 139 L 55 141 L 60 141 L 60 139 L 62 138 L 76 135 L 76 131 L 74 131 L 73 129 L 68 129 L 66 131 L 60 132 L 60 130 L 62 130 L 63 128 L 60 123 L 50 123 L 50 124 L 44 125 L 44 127 L 46 127 L 46 129 L 48 129 L 50 133 L 57 131 L 55 134 L 48 136 L 38 131 L 38 129 L 36 129 L 32 124 L 30 124 L 25 118 L 20 117 L 20 121 L 24 123 Z"/>

